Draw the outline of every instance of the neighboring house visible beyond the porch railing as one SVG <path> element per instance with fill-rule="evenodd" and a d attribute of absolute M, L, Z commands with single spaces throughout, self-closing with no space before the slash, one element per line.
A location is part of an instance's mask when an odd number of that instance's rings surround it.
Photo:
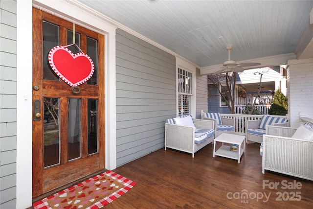
<path fill-rule="evenodd" d="M 258 98 L 258 89 L 260 85 L 260 98 Z M 280 88 L 282 93 L 287 95 L 287 70 L 284 66 L 275 66 L 271 68 L 251 69 L 239 72 L 237 74 L 235 86 L 235 105 L 244 106 L 246 104 L 266 105 L 272 102 L 275 91 Z M 221 82 L 223 85 L 223 82 Z M 256 98 L 256 100 L 255 100 Z M 229 114 L 230 111 L 220 96 L 218 89 L 208 80 L 208 111 Z M 236 113 L 236 112 L 235 112 Z"/>

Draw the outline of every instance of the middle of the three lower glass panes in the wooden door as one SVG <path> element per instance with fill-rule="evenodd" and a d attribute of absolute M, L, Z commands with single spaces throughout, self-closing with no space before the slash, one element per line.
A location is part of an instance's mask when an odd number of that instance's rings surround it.
<path fill-rule="evenodd" d="M 80 99 L 68 98 L 67 147 L 68 160 L 81 157 Z"/>

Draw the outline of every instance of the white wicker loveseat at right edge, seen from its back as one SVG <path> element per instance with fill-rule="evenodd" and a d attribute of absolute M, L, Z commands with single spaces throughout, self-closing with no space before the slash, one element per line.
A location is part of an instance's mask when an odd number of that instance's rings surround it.
<path fill-rule="evenodd" d="M 313 181 L 313 140 L 291 138 L 296 130 L 290 127 L 267 127 L 263 135 L 263 174 L 269 170 Z M 302 130 L 299 132 L 303 133 Z"/>

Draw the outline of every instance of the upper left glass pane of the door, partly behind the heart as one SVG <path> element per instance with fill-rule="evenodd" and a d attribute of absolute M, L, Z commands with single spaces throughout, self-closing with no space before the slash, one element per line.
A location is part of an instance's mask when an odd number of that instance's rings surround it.
<path fill-rule="evenodd" d="M 60 45 L 60 39 L 59 39 L 59 29 L 60 27 L 58 25 L 48 23 L 46 21 L 43 21 L 43 37 L 44 37 L 44 47 L 43 47 L 43 65 L 44 65 L 44 79 L 50 80 L 50 81 L 58 81 L 59 76 L 54 73 L 54 71 L 51 69 L 50 64 L 48 62 L 48 54 L 49 51 L 54 46 Z"/>

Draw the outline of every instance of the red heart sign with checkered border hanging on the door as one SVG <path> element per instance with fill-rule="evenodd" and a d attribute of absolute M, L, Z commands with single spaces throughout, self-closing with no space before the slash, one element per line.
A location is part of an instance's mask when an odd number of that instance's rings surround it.
<path fill-rule="evenodd" d="M 52 70 L 71 87 L 85 83 L 94 72 L 93 62 L 87 54 L 73 54 L 65 46 L 53 47 L 48 60 Z"/>

